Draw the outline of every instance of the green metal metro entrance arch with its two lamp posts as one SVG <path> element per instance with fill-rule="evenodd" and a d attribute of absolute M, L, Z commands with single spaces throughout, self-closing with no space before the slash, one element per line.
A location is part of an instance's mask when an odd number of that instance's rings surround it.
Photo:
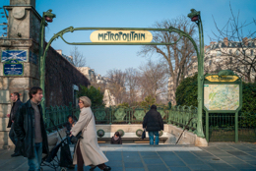
<path fill-rule="evenodd" d="M 196 11 L 194 9 L 191 9 L 191 13 L 189 13 L 187 16 L 191 19 L 192 22 L 195 22 L 198 26 L 199 30 L 199 48 L 197 47 L 196 42 L 194 39 L 185 31 L 180 30 L 178 28 L 65 28 L 58 33 L 54 34 L 49 42 L 47 43 L 44 51 L 43 51 L 43 44 L 44 44 L 44 28 L 47 25 L 46 22 L 52 22 L 52 19 L 55 18 L 56 16 L 51 13 L 52 10 L 48 10 L 47 12 L 44 12 L 42 15 L 42 20 L 41 20 L 41 25 L 40 25 L 40 50 L 39 50 L 39 56 L 40 56 L 40 67 L 39 67 L 39 73 L 40 73 L 40 87 L 43 90 L 44 93 L 44 79 L 45 79 L 45 57 L 47 50 L 52 43 L 53 40 L 55 40 L 58 37 L 61 37 L 61 39 L 66 42 L 67 44 L 71 45 L 171 45 L 177 43 L 181 37 L 187 37 L 192 44 L 194 45 L 194 48 L 197 53 L 197 59 L 198 59 L 198 117 L 195 118 L 197 120 L 197 129 L 196 129 L 196 134 L 200 138 L 205 138 L 205 135 L 203 133 L 203 126 L 202 126 L 202 111 L 203 111 L 203 82 L 204 82 L 204 33 L 203 33 L 203 25 L 201 21 L 201 16 L 200 16 L 200 11 Z M 66 32 L 74 32 L 76 30 L 112 30 L 112 31 L 125 31 L 125 30 L 131 30 L 131 31 L 168 31 L 168 32 L 176 32 L 179 34 L 179 38 L 175 42 L 167 42 L 167 43 L 159 43 L 159 42 L 145 42 L 145 41 L 140 41 L 143 39 L 145 40 L 145 35 L 143 36 L 142 34 L 138 35 L 137 34 L 137 40 L 139 39 L 138 42 L 129 42 L 127 38 L 133 38 L 135 36 L 125 35 L 122 34 L 123 40 L 127 41 L 121 41 L 121 42 L 68 42 L 63 38 L 63 34 Z M 120 33 L 121 34 L 121 33 Z M 98 35 L 99 38 L 105 39 L 104 36 L 107 36 L 107 39 L 117 39 L 120 37 L 119 34 L 112 34 L 111 32 L 107 32 L 105 35 Z M 116 37 L 115 37 L 116 36 Z M 138 38 L 139 36 L 139 38 Z M 124 38 L 125 37 L 125 38 Z M 41 102 L 43 112 L 45 111 L 45 98 L 43 94 L 43 99 Z"/>

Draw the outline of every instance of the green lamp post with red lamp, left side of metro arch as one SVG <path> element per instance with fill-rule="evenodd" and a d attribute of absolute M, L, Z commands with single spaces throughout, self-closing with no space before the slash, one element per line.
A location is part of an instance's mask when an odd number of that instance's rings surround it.
<path fill-rule="evenodd" d="M 45 109 L 45 92 L 44 92 L 44 79 L 45 79 L 45 55 L 43 55 L 43 46 L 44 46 L 44 30 L 48 25 L 46 22 L 51 23 L 52 19 L 56 15 L 51 13 L 52 10 L 43 12 L 41 24 L 40 24 L 40 36 L 39 36 L 39 74 L 40 74 L 40 87 L 42 88 L 43 97 L 41 100 L 42 112 L 44 113 Z"/>

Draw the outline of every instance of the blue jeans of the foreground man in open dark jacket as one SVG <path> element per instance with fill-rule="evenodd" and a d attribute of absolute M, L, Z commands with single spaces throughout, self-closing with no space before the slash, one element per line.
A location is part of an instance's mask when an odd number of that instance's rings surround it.
<path fill-rule="evenodd" d="M 34 157 L 28 158 L 29 171 L 40 171 L 42 142 L 34 143 Z"/>

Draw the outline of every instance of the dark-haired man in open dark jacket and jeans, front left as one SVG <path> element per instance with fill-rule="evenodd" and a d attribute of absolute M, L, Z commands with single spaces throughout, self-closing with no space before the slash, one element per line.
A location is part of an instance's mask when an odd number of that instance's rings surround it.
<path fill-rule="evenodd" d="M 39 104 L 43 96 L 42 89 L 33 86 L 29 95 L 30 100 L 19 108 L 14 130 L 20 140 L 21 154 L 28 157 L 29 171 L 39 171 L 42 153 L 49 152 L 42 108 Z"/>

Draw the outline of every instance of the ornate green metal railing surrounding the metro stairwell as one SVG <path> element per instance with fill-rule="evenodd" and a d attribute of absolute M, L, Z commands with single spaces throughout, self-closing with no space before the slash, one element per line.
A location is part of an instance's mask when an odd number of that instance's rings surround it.
<path fill-rule="evenodd" d="M 144 116 L 150 108 L 140 106 L 134 107 L 95 107 L 92 108 L 96 124 L 142 124 Z M 158 111 L 163 119 L 164 124 L 173 124 L 179 128 L 186 128 L 190 132 L 196 131 L 197 128 L 197 108 L 193 106 L 173 106 L 171 109 L 164 106 L 158 106 Z M 45 127 L 48 132 L 58 128 L 65 127 L 67 116 L 72 115 L 75 119 L 79 118 L 80 109 L 69 106 L 50 106 L 45 111 Z M 53 123 L 50 122 L 50 119 Z"/>

